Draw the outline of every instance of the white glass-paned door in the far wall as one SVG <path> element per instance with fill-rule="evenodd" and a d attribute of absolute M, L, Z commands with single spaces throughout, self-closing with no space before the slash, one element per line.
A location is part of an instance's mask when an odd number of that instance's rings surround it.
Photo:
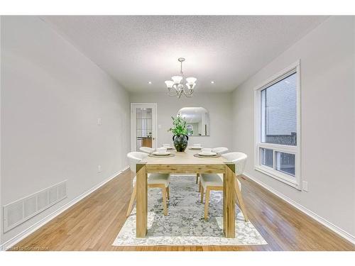
<path fill-rule="evenodd" d="M 156 104 L 131 104 L 131 150 L 156 148 Z"/>

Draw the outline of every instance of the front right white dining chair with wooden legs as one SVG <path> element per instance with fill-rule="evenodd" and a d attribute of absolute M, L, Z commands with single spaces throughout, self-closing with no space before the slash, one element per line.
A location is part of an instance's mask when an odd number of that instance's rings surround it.
<path fill-rule="evenodd" d="M 236 166 L 236 182 L 234 182 L 234 193 L 236 194 L 236 199 L 239 202 L 239 207 L 244 215 L 245 221 L 249 221 L 248 215 L 246 214 L 246 208 L 244 205 L 243 197 L 241 196 L 241 182 L 238 177 L 243 174 L 244 167 L 246 164 L 246 159 L 248 156 L 244 153 L 225 153 L 222 155 L 227 162 L 234 163 Z M 239 189 L 236 187 L 238 184 Z M 204 191 L 206 192 L 206 198 L 204 199 L 204 218 L 208 218 L 208 207 L 209 207 L 209 192 L 211 190 L 223 190 L 223 174 L 201 174 L 200 175 L 200 192 L 201 192 L 201 202 L 203 203 Z"/>

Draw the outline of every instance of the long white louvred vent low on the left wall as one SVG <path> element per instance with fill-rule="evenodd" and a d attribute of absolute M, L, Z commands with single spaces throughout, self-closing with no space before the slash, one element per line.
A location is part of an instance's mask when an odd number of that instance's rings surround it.
<path fill-rule="evenodd" d="M 4 206 L 4 232 L 67 197 L 67 180 Z"/>

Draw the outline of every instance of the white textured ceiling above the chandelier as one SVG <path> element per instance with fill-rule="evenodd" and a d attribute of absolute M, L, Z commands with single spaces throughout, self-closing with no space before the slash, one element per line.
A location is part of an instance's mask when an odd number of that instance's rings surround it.
<path fill-rule="evenodd" d="M 178 57 L 185 77 L 197 77 L 196 92 L 230 92 L 327 17 L 42 18 L 130 92 L 165 92 Z"/>

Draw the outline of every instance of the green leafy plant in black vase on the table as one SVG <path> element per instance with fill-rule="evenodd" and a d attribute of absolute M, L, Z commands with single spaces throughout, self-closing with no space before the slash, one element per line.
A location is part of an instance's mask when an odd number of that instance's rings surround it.
<path fill-rule="evenodd" d="M 187 126 L 186 120 L 182 116 L 178 115 L 176 117 L 171 117 L 173 119 L 173 127 L 168 131 L 173 132 L 173 142 L 175 149 L 178 152 L 183 152 L 187 148 L 187 141 L 189 137 L 187 136 Z"/>

